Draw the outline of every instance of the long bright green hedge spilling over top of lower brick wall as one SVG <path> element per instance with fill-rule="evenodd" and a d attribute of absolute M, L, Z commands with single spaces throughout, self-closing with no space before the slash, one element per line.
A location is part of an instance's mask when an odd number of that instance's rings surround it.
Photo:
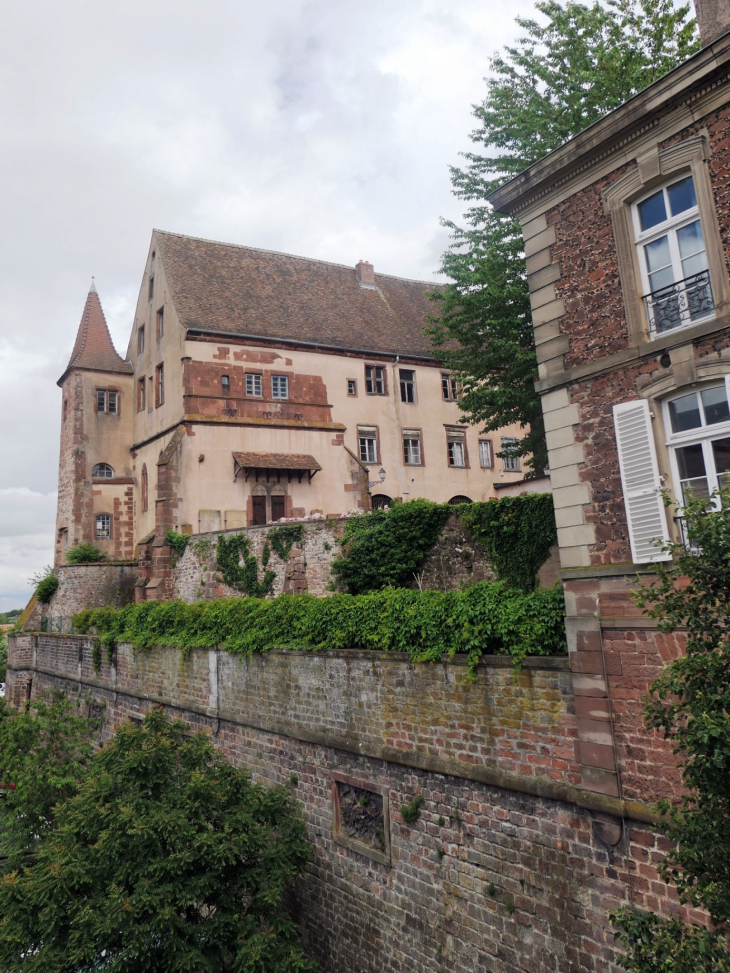
<path fill-rule="evenodd" d="M 519 663 L 528 655 L 564 654 L 564 614 L 559 586 L 525 594 L 502 582 L 480 582 L 445 593 L 388 588 L 330 598 L 147 602 L 86 609 L 73 624 L 81 634 L 95 628 L 108 652 L 120 641 L 183 652 L 220 646 L 239 655 L 361 648 L 407 652 L 418 662 L 458 652 L 468 655 L 473 669 L 482 655 L 511 655 Z"/>

